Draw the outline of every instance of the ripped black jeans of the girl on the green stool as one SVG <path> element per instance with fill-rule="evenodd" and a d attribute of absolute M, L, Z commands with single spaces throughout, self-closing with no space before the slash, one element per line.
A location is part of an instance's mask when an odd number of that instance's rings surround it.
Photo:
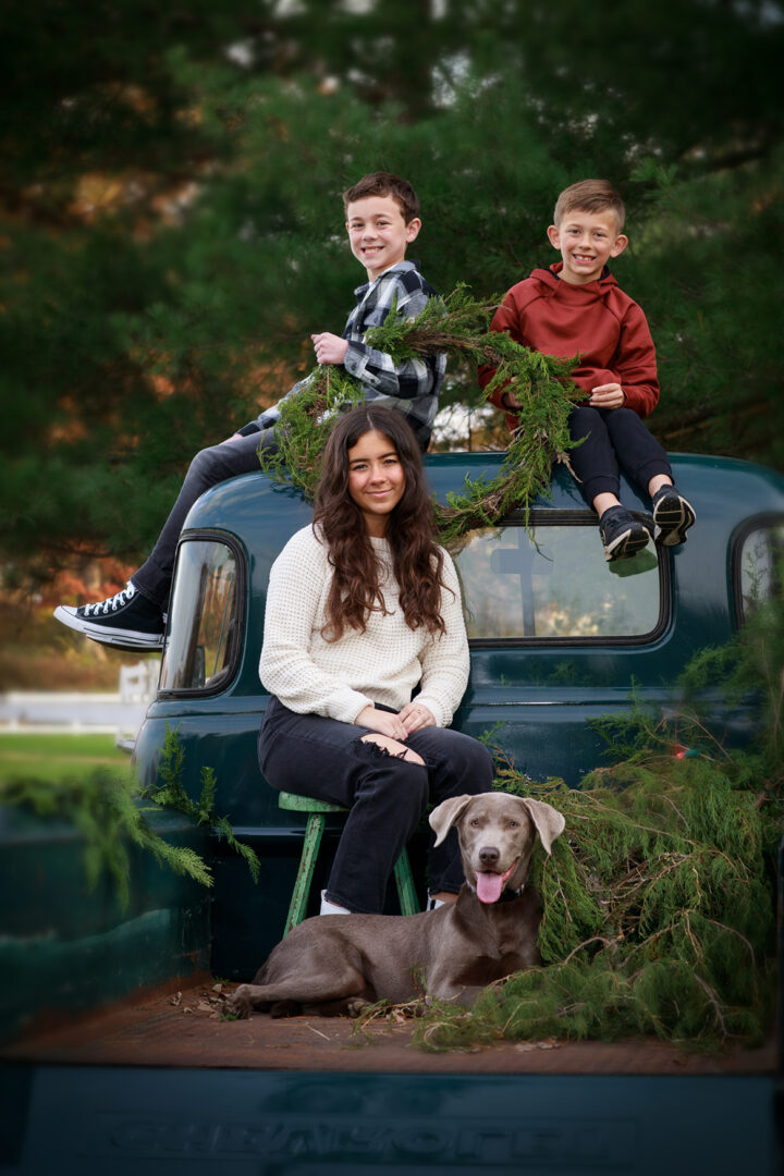
<path fill-rule="evenodd" d="M 386 755 L 364 740 L 367 727 L 320 715 L 297 715 L 272 697 L 259 734 L 259 762 L 281 791 L 349 809 L 327 883 L 327 898 L 367 914 L 383 908 L 400 851 L 429 804 L 492 788 L 484 744 L 448 727 L 424 727 L 406 746 L 424 766 Z M 430 891 L 456 894 L 463 883 L 457 834 L 451 829 L 428 855 Z"/>

